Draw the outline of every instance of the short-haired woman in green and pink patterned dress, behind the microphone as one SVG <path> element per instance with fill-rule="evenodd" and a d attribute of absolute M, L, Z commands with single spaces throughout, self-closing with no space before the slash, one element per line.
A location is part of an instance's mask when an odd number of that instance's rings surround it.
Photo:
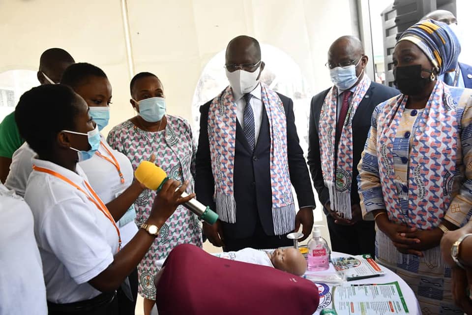
<path fill-rule="evenodd" d="M 196 147 L 189 123 L 177 116 L 166 115 L 164 88 L 152 73 L 137 74 L 130 84 L 131 104 L 138 115 L 115 126 L 108 135 L 112 148 L 126 155 L 133 165 L 155 155 L 156 165 L 162 167 L 168 176 L 181 183 L 189 181 L 187 192 L 194 190 Z M 145 190 L 137 199 L 137 224 L 149 216 L 156 192 Z M 167 257 L 179 244 L 202 246 L 201 223 L 183 206 L 166 221 L 154 244 L 138 265 L 139 292 L 145 298 L 145 315 L 154 305 L 155 261 Z"/>

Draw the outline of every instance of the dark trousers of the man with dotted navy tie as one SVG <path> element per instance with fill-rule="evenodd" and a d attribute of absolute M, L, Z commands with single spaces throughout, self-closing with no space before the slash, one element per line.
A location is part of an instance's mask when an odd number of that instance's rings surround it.
<path fill-rule="evenodd" d="M 256 229 L 254 230 L 254 234 L 251 237 L 235 239 L 232 238 L 231 235 L 226 235 L 223 231 L 224 235 L 224 243 L 223 251 L 225 252 L 233 252 L 239 251 L 243 248 L 253 248 L 256 250 L 263 250 L 263 249 L 274 249 L 283 246 L 293 246 L 294 241 L 289 240 L 287 238 L 287 234 L 284 235 L 272 235 L 269 236 L 264 232 L 264 228 L 262 227 L 261 222 L 258 220 L 256 224 Z"/>

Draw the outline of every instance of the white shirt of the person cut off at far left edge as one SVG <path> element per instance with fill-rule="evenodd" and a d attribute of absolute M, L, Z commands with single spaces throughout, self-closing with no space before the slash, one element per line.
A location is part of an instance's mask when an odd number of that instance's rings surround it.
<path fill-rule="evenodd" d="M 0 314 L 48 314 L 33 216 L 14 191 L 0 183 Z"/>

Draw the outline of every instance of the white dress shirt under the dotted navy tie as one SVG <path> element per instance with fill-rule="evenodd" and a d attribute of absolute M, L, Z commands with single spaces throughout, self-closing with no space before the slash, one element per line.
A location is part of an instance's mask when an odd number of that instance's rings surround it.
<path fill-rule="evenodd" d="M 251 104 L 252 111 L 254 112 L 254 135 L 256 137 L 255 143 L 257 143 L 257 138 L 259 137 L 259 130 L 261 129 L 262 124 L 262 113 L 264 104 L 262 103 L 262 92 L 261 84 L 258 84 L 254 90 L 250 93 L 252 94 Z M 233 96 L 236 102 L 236 117 L 239 125 L 244 129 L 244 107 L 246 107 L 246 101 L 242 97 L 243 95 L 240 92 L 233 90 Z"/>

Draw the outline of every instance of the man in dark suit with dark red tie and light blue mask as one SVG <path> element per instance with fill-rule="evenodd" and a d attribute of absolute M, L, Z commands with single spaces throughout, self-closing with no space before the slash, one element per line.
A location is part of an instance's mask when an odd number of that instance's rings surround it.
<path fill-rule="evenodd" d="M 371 82 L 364 72 L 367 62 L 359 39 L 335 40 L 326 63 L 334 86 L 313 96 L 310 108 L 308 165 L 324 206 L 332 250 L 353 255 L 374 255 L 375 242 L 375 222 L 362 220 L 357 164 L 374 108 L 399 94 Z"/>

